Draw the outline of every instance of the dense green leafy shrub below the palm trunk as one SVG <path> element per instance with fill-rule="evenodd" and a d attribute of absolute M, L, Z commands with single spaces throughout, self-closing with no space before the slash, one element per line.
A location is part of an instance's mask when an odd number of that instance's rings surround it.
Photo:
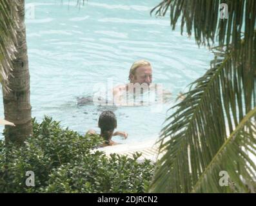
<path fill-rule="evenodd" d="M 81 136 L 45 117 L 33 121 L 34 135 L 16 147 L 0 140 L 0 192 L 145 192 L 153 174 L 150 161 L 92 152 L 100 136 Z M 35 186 L 26 186 L 26 171 Z"/>

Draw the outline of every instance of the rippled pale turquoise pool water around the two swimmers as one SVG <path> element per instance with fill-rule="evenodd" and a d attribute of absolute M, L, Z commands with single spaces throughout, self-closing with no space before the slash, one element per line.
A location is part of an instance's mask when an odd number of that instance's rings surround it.
<path fill-rule="evenodd" d="M 138 59 L 152 63 L 153 82 L 162 83 L 173 98 L 200 77 L 213 55 L 199 49 L 193 37 L 181 36 L 179 24 L 172 31 L 168 17 L 151 17 L 158 3 L 88 0 L 78 8 L 76 1 L 27 0 L 32 116 L 39 121 L 51 116 L 81 134 L 97 129 L 97 118 L 106 108 L 78 106 L 77 97 L 92 95 L 95 84 L 107 80 L 128 82 L 130 66 Z M 157 138 L 171 106 L 173 102 L 157 112 L 154 105 L 109 109 L 117 115 L 117 129 L 128 132 L 125 141 L 139 142 Z M 0 111 L 3 117 L 3 101 Z"/>

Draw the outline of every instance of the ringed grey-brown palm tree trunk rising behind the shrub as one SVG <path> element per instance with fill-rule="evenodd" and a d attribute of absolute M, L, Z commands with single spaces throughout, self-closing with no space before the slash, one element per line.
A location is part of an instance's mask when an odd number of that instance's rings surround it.
<path fill-rule="evenodd" d="M 30 74 L 28 71 L 28 55 L 26 46 L 25 27 L 25 0 L 14 0 L 16 3 L 12 12 L 17 12 L 17 42 L 15 43 L 17 53 L 16 59 L 12 61 L 13 71 L 11 72 L 9 88 L 7 92 L 3 89 L 3 104 L 5 119 L 13 122 L 15 127 L 5 126 L 6 142 L 23 144 L 24 140 L 32 135 L 32 118 L 30 106 Z"/>

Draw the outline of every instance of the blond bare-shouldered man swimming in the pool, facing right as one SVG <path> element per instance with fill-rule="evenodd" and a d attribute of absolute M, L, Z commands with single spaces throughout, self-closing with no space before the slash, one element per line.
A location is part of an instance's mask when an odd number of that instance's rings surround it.
<path fill-rule="evenodd" d="M 141 93 L 143 93 L 144 91 L 148 91 L 152 86 L 155 87 L 155 84 L 152 84 L 152 66 L 150 62 L 144 59 L 133 62 L 128 79 L 130 80 L 129 84 L 123 84 L 113 88 L 113 102 L 116 105 L 126 104 L 123 102 L 124 93 L 130 93 L 132 90 L 134 95 L 134 89 L 140 89 Z M 159 91 L 161 91 L 164 97 L 169 98 L 171 95 L 170 91 L 164 89 L 160 89 Z"/>

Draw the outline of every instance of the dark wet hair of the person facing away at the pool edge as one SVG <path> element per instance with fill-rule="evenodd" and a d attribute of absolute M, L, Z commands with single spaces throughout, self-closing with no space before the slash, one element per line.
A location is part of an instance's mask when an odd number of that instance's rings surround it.
<path fill-rule="evenodd" d="M 117 127 L 117 118 L 112 111 L 103 111 L 99 116 L 98 126 L 102 131 L 113 131 Z"/>

